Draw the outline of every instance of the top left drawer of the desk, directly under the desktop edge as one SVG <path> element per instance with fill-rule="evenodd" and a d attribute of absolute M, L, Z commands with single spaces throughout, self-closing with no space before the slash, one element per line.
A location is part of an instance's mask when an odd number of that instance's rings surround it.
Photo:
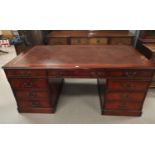
<path fill-rule="evenodd" d="M 24 69 L 24 70 L 5 70 L 6 75 L 8 77 L 46 77 L 46 71 L 45 70 L 29 70 L 29 69 Z"/>

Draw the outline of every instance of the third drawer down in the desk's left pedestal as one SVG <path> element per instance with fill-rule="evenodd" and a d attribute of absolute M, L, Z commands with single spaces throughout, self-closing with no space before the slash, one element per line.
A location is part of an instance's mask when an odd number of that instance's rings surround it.
<path fill-rule="evenodd" d="M 18 99 L 34 100 L 37 98 L 48 100 L 49 98 L 47 91 L 16 91 L 15 93 Z"/>

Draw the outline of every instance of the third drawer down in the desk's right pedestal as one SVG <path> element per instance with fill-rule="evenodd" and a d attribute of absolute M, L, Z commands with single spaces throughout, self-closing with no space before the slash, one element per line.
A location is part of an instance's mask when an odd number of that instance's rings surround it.
<path fill-rule="evenodd" d="M 107 101 L 143 101 L 145 92 L 108 92 Z"/>

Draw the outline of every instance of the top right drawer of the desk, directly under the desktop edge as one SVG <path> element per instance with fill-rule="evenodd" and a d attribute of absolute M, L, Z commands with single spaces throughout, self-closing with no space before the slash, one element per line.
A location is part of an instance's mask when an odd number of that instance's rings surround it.
<path fill-rule="evenodd" d="M 151 78 L 153 71 L 113 71 L 109 73 L 110 77 L 126 77 L 126 78 Z"/>

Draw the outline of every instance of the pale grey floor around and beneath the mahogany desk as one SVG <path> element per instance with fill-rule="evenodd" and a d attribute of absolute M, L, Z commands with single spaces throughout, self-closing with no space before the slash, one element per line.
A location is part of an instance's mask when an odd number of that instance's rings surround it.
<path fill-rule="evenodd" d="M 0 53 L 0 66 L 16 56 L 13 46 L 5 50 L 9 53 Z M 155 123 L 155 90 L 149 90 L 141 117 L 100 113 L 96 79 L 65 79 L 55 114 L 20 114 L 4 71 L 0 68 L 0 123 Z"/>

